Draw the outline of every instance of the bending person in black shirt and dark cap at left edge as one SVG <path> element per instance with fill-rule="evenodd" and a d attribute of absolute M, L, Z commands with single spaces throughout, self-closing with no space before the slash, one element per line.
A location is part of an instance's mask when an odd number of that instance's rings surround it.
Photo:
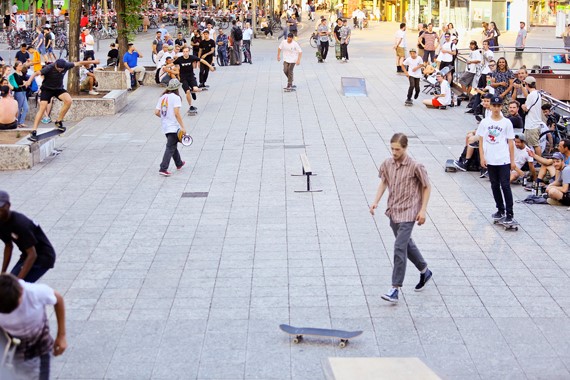
<path fill-rule="evenodd" d="M 22 254 L 12 274 L 36 282 L 55 264 L 55 250 L 41 227 L 23 214 L 10 210 L 10 196 L 0 190 L 0 239 L 4 242 L 2 273 L 6 272 L 14 244 Z"/>

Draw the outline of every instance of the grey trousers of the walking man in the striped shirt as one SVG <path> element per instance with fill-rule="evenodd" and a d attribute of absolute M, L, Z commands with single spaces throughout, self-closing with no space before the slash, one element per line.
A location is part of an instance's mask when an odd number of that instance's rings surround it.
<path fill-rule="evenodd" d="M 392 286 L 402 286 L 406 276 L 407 259 L 421 272 L 427 268 L 422 254 L 412 239 L 412 229 L 415 222 L 394 223 L 390 219 L 390 227 L 394 231 L 394 270 L 392 271 Z"/>

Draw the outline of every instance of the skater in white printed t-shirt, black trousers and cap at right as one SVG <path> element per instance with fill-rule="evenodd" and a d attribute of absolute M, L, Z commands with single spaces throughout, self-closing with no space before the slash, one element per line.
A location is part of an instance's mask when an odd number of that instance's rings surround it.
<path fill-rule="evenodd" d="M 497 212 L 491 217 L 493 220 L 502 219 L 504 223 L 513 223 L 510 172 L 516 168 L 515 133 L 513 124 L 501 112 L 502 104 L 503 99 L 498 96 L 491 99 L 491 117 L 481 120 L 477 136 L 481 166 L 489 172 L 491 190 L 497 206 Z"/>

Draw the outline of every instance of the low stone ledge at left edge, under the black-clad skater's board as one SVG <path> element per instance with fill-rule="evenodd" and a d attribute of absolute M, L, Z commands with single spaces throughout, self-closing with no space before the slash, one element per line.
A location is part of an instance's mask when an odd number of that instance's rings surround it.
<path fill-rule="evenodd" d="M 0 170 L 30 169 L 45 160 L 55 149 L 55 139 L 32 143 L 27 139 L 29 131 L 0 131 L 0 136 L 23 137 L 13 144 L 0 144 Z"/>

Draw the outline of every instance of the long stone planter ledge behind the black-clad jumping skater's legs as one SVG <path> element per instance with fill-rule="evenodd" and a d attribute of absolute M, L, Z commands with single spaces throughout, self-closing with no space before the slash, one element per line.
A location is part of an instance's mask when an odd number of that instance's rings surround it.
<path fill-rule="evenodd" d="M 51 117 L 59 114 L 62 102 L 55 100 L 51 111 Z M 87 116 L 115 115 L 127 105 L 127 91 L 113 90 L 103 97 L 81 97 L 74 96 L 71 109 L 65 115 L 67 121 L 80 121 Z M 26 116 L 27 120 L 33 121 L 36 117 L 38 108 L 35 101 L 29 102 L 29 112 Z"/>

